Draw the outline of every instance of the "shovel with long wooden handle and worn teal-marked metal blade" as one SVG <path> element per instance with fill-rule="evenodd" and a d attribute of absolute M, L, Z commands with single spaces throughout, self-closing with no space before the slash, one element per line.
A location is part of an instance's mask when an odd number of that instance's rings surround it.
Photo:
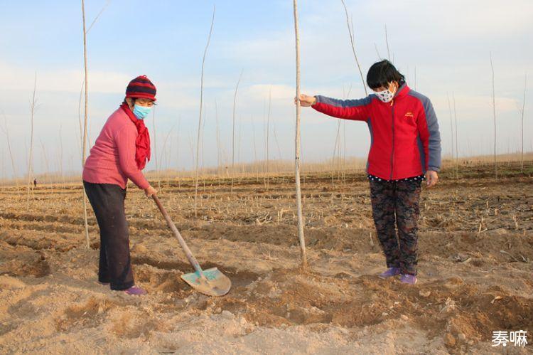
<path fill-rule="evenodd" d="M 227 292 L 230 292 L 230 288 L 232 287 L 231 280 L 226 275 L 222 274 L 222 272 L 220 272 L 220 270 L 218 270 L 216 267 L 212 267 L 208 270 L 202 270 L 202 267 L 200 267 L 200 264 L 198 264 L 198 260 L 196 260 L 193 253 L 190 253 L 190 249 L 185 243 L 185 240 L 183 240 L 178 228 L 176 228 L 171 220 L 171 217 L 168 216 L 165 208 L 163 208 L 163 205 L 161 205 L 159 198 L 157 198 L 156 195 L 152 195 L 152 198 L 154 198 L 154 201 L 156 201 L 159 211 L 163 213 L 166 223 L 174 232 L 176 238 L 178 238 L 178 242 L 180 242 L 181 248 L 183 248 L 185 255 L 187 255 L 190 265 L 193 265 L 194 267 L 195 272 L 181 275 L 181 278 L 187 282 L 190 287 L 193 287 L 193 289 L 197 290 L 198 292 L 202 292 L 204 295 L 223 296 L 226 295 Z"/>

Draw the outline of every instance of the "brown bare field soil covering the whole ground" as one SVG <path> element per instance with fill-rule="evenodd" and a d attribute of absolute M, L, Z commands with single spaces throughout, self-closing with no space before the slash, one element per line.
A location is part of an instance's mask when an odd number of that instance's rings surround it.
<path fill-rule="evenodd" d="M 99 235 L 89 211 L 85 248 L 79 187 L 36 191 L 30 208 L 15 189 L 0 191 L 0 349 L 485 354 L 495 351 L 496 330 L 533 334 L 530 178 L 443 179 L 424 191 L 414 286 L 375 276 L 384 258 L 364 176 L 332 186 L 330 177 L 308 174 L 302 188 L 311 270 L 298 269 L 288 181 L 266 189 L 243 179 L 233 194 L 223 182 L 208 184 L 197 217 L 193 186 L 162 184 L 161 201 L 200 264 L 232 280 L 230 293 L 218 298 L 181 280 L 193 268 L 142 191 L 129 191 L 126 216 L 144 297 L 97 282 Z M 511 352 L 531 351 L 531 337 L 528 343 Z"/>

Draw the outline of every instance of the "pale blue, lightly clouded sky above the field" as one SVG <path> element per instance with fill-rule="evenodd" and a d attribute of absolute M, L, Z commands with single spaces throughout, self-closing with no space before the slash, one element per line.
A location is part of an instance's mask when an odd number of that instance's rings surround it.
<path fill-rule="evenodd" d="M 346 1 L 353 16 L 357 54 L 363 71 L 387 57 L 407 75 L 408 84 L 434 103 L 449 154 L 447 95 L 456 97 L 459 153 L 489 154 L 492 149 L 492 87 L 489 53 L 495 66 L 498 151 L 519 149 L 519 110 L 524 74 L 529 75 L 525 146 L 533 132 L 533 3 L 514 1 Z M 87 0 L 87 23 L 108 4 Z M 212 6 L 215 27 L 205 63 L 205 165 L 216 164 L 216 124 L 222 151 L 231 159 L 233 90 L 237 97 L 239 161 L 264 157 L 264 105 L 272 95 L 271 157 L 294 155 L 294 23 L 292 1 L 109 1 L 87 34 L 90 138 L 122 101 L 131 78 L 146 74 L 158 88 L 158 154 L 168 134 L 168 165 L 189 169 L 195 145 L 200 66 Z M 79 169 L 78 100 L 82 85 L 80 1 L 0 2 L 0 121 L 9 127 L 16 173 L 26 173 L 29 144 L 28 98 L 37 73 L 35 170 L 58 170 L 60 137 L 63 169 Z M 343 6 L 339 1 L 300 1 L 302 91 L 330 97 L 362 97 Z M 377 48 L 377 51 L 376 51 Z M 304 161 L 333 152 L 337 121 L 303 110 Z M 179 122 L 179 123 L 178 123 Z M 152 118 L 146 121 L 153 130 Z M 179 129 L 178 129 L 179 128 Z M 274 141 L 274 129 L 279 151 Z M 60 136 L 61 132 L 61 136 Z M 365 157 L 370 137 L 365 124 L 347 122 L 347 156 Z M 0 133 L 0 168 L 12 176 L 6 139 Z M 171 157 L 168 159 L 168 157 Z M 161 159 L 160 159 L 161 160 Z M 153 159 L 148 169 L 154 169 Z M 165 167 L 166 163 L 163 164 Z"/>

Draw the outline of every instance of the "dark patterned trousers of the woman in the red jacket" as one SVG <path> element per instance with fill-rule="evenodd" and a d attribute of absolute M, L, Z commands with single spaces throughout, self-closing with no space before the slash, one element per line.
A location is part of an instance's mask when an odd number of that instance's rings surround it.
<path fill-rule="evenodd" d="M 416 275 L 420 192 L 421 181 L 370 181 L 372 216 L 387 267 L 404 274 Z"/>

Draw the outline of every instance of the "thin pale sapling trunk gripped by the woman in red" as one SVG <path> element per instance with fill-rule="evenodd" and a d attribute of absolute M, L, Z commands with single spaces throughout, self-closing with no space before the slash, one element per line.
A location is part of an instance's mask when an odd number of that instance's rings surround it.
<path fill-rule="evenodd" d="M 306 240 L 303 236 L 303 213 L 301 206 L 300 188 L 300 38 L 298 35 L 298 6 L 293 0 L 294 6 L 294 36 L 296 39 L 296 138 L 294 139 L 295 150 L 295 180 L 296 180 L 296 211 L 298 213 L 298 240 L 300 241 L 301 264 L 307 267 Z"/>

